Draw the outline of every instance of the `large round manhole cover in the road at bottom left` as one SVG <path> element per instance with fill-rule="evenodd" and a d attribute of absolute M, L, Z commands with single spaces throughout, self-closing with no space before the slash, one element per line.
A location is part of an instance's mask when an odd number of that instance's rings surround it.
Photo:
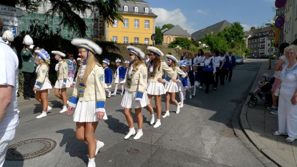
<path fill-rule="evenodd" d="M 23 161 L 52 151 L 56 142 L 48 138 L 35 138 L 14 143 L 8 147 L 6 160 Z"/>

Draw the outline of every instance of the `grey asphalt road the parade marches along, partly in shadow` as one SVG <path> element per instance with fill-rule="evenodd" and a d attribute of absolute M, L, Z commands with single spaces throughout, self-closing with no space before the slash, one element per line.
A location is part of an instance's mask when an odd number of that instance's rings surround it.
<path fill-rule="evenodd" d="M 149 125 L 149 113 L 143 109 L 144 136 L 139 140 L 124 140 L 127 122 L 120 106 L 121 96 L 106 101 L 108 120 L 100 121 L 96 137 L 105 143 L 96 157 L 98 167 L 261 167 L 261 162 L 234 135 L 231 118 L 241 110 L 247 91 L 261 63 L 248 61 L 233 71 L 231 82 L 210 89 L 208 94 L 198 89 L 195 98 L 185 101 L 180 114 L 171 105 L 169 118 L 161 126 Z M 165 99 L 162 108 L 165 110 Z M 4 167 L 85 167 L 87 145 L 75 138 L 72 115 L 59 114 L 62 104 L 51 101 L 53 110 L 48 117 L 36 119 L 41 105 L 20 106 L 20 124 L 10 144 L 32 139 L 50 138 L 57 146 L 46 155 L 25 160 L 5 161 Z M 133 115 L 135 120 L 135 115 Z M 135 120 L 136 122 L 136 120 Z M 137 124 L 135 124 L 137 128 Z M 31 150 L 34 148 L 28 148 Z M 128 150 L 138 149 L 136 155 Z"/>

